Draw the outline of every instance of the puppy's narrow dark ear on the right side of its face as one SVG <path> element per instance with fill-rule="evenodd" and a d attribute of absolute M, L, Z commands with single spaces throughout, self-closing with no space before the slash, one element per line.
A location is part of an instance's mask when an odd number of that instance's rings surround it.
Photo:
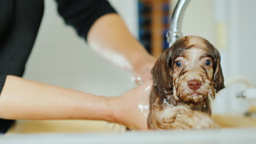
<path fill-rule="evenodd" d="M 214 58 L 214 74 L 213 74 L 213 81 L 216 83 L 215 89 L 216 92 L 218 93 L 220 90 L 225 88 L 224 86 L 224 77 L 222 73 L 222 67 L 220 66 L 220 54 L 219 51 L 214 47 L 214 53 L 215 53 L 215 58 Z"/>

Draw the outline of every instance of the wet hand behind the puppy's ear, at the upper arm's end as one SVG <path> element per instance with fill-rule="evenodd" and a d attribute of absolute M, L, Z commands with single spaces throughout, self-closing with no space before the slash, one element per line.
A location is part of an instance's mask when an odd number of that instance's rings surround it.
<path fill-rule="evenodd" d="M 132 81 L 137 85 L 141 85 L 151 79 L 151 69 L 155 61 L 156 59 L 153 56 L 148 56 L 147 58 L 143 58 L 142 61 L 138 61 L 132 69 Z"/>

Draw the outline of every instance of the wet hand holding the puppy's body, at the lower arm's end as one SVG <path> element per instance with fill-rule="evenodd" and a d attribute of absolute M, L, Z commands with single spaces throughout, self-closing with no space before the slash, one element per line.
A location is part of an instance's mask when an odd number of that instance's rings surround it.
<path fill-rule="evenodd" d="M 149 95 L 152 79 L 112 99 L 113 122 L 131 129 L 148 130 Z"/>

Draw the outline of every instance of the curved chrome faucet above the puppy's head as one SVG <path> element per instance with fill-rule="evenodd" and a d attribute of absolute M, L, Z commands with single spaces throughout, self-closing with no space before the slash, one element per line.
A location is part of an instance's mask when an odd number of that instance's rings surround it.
<path fill-rule="evenodd" d="M 182 20 L 189 2 L 190 0 L 178 0 L 172 12 L 170 29 L 166 33 L 169 47 L 171 47 L 179 38 L 183 37 L 183 33 L 181 31 Z"/>

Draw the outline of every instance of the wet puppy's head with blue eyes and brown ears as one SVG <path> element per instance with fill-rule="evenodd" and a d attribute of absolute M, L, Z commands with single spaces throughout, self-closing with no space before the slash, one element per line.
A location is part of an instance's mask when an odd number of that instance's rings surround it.
<path fill-rule="evenodd" d="M 152 75 L 156 91 L 164 100 L 160 103 L 173 95 L 184 103 L 199 104 L 225 87 L 218 50 L 196 36 L 183 37 L 165 50 Z"/>

